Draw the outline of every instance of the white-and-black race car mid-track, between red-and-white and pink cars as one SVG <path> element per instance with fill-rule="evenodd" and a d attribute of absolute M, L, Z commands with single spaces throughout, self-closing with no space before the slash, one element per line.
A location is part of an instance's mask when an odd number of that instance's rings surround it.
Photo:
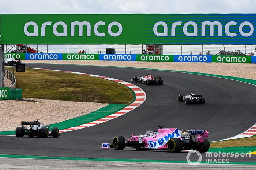
<path fill-rule="evenodd" d="M 180 102 L 185 102 L 185 104 L 193 104 L 193 103 L 204 104 L 205 103 L 205 99 L 202 98 L 202 95 L 196 95 L 193 92 L 184 96 L 179 95 L 177 100 Z"/>

